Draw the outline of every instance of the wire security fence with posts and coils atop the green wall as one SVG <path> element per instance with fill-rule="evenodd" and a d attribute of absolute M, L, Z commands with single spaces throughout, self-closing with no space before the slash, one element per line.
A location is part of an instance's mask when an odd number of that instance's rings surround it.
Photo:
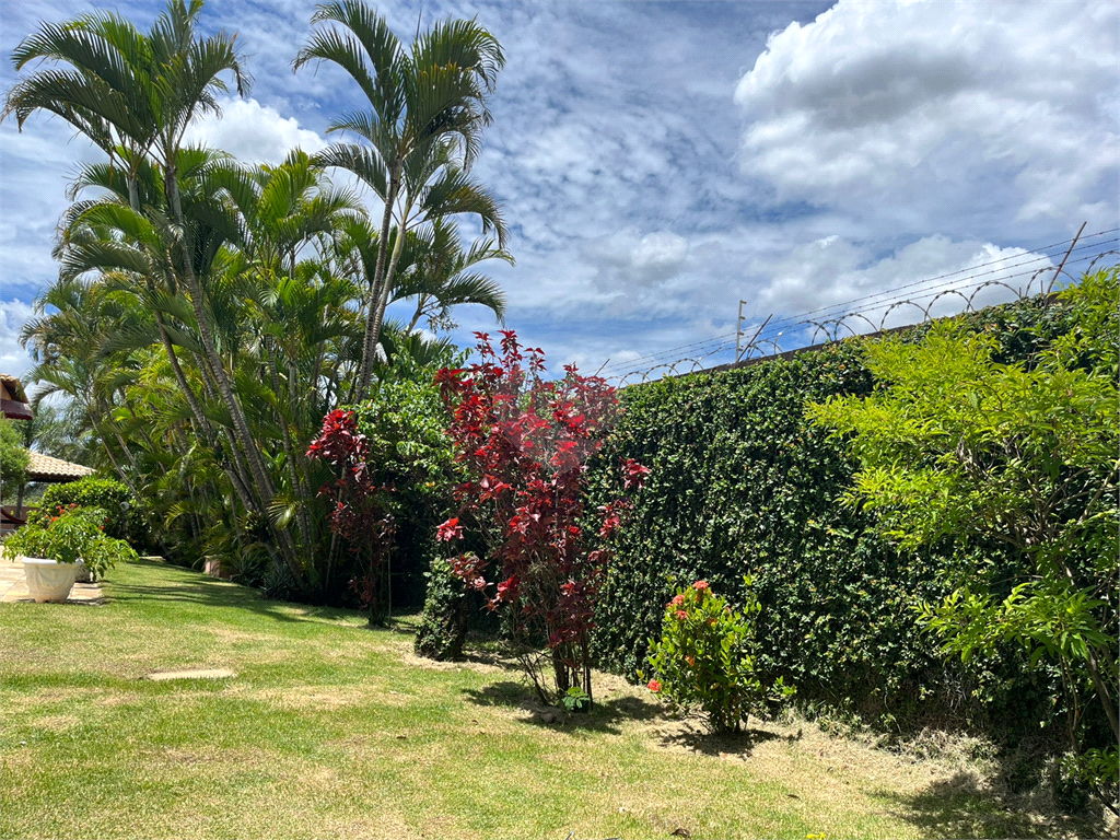
<path fill-rule="evenodd" d="M 1084 234 L 1084 227 L 1072 240 L 797 315 L 752 320 L 743 315 L 746 301 L 739 301 L 735 332 L 638 358 L 608 361 L 598 375 L 625 388 L 665 376 L 753 364 L 843 338 L 877 335 L 997 304 L 1049 296 L 1066 282 L 1075 281 L 1076 274 L 1117 261 L 1120 228 Z"/>

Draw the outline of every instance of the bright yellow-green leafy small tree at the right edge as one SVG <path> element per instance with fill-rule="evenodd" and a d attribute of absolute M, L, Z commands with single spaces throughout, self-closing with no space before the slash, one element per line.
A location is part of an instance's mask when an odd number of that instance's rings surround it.
<path fill-rule="evenodd" d="M 877 511 L 902 547 L 952 535 L 1011 548 L 1017 563 L 962 570 L 948 581 L 955 591 L 922 615 L 946 653 L 968 659 L 1016 641 L 1057 665 L 1083 753 L 1071 769 L 1110 808 L 1120 736 L 1118 274 L 1064 292 L 1074 328 L 1030 368 L 993 362 L 990 336 L 949 321 L 921 344 L 868 344 L 881 388 L 809 409 L 848 437 L 861 461 L 851 498 Z M 1107 720 L 1111 738 L 1092 735 L 1086 712 Z"/>

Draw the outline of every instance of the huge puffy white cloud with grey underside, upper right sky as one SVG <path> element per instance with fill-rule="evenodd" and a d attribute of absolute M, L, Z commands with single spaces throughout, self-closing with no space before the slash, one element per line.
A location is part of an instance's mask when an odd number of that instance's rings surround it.
<path fill-rule="evenodd" d="M 967 235 L 977 211 L 1111 221 L 1118 18 L 1114 3 L 841 0 L 773 35 L 740 80 L 741 171 L 896 232 Z"/>

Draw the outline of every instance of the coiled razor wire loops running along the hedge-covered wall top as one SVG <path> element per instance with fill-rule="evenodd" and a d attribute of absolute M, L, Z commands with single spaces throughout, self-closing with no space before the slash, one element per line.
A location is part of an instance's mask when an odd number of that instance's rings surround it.
<path fill-rule="evenodd" d="M 1071 242 L 1074 243 L 1073 246 L 1071 246 L 1066 252 L 1062 263 L 1056 267 L 1053 262 L 1051 262 L 1049 256 L 1043 254 L 1030 260 L 1025 260 L 1020 263 L 1005 265 L 1002 269 L 995 271 L 984 271 L 973 273 L 964 278 L 959 278 L 950 283 L 937 283 L 933 287 L 915 288 L 927 286 L 930 282 L 943 280 L 954 274 L 960 274 L 964 270 L 950 272 L 948 274 L 941 274 L 927 280 L 899 286 L 875 295 L 856 298 L 855 300 L 847 301 L 844 304 L 821 307 L 808 314 L 787 316 L 780 319 L 768 318 L 760 326 L 752 327 L 755 329 L 753 335 L 750 334 L 750 328 L 746 330 L 743 329 L 743 324 L 740 321 L 739 329 L 735 333 L 715 336 L 713 338 L 704 339 L 702 342 L 694 342 L 690 345 L 682 345 L 678 348 L 662 351 L 660 353 L 650 354 L 648 356 L 642 356 L 637 360 L 627 360 L 624 362 L 617 362 L 613 365 L 605 365 L 603 370 L 613 370 L 614 372 L 600 375 L 605 375 L 608 380 L 615 380 L 618 388 L 626 388 L 627 385 L 652 382 L 666 376 L 682 376 L 689 373 L 698 373 L 707 370 L 724 370 L 727 367 L 754 364 L 764 358 L 813 349 L 823 344 L 842 340 L 843 338 L 868 334 L 880 334 L 887 332 L 888 329 L 923 324 L 937 317 L 949 317 L 951 315 L 979 311 L 980 309 L 995 305 L 996 302 L 1009 302 L 1008 300 L 992 301 L 990 304 L 982 302 L 989 298 L 988 295 L 984 295 L 984 292 L 989 290 L 996 290 L 997 292 L 1001 291 L 1001 297 L 1009 296 L 1010 300 L 1025 300 L 1033 297 L 1048 296 L 1062 276 L 1072 282 L 1076 281 L 1076 278 L 1066 270 L 1067 268 L 1089 263 L 1085 271 L 1086 273 L 1091 273 L 1102 261 L 1108 260 L 1109 258 L 1120 258 L 1120 250 L 1116 248 L 1098 250 L 1107 245 L 1120 243 L 1120 237 L 1100 241 L 1100 237 L 1112 233 L 1117 233 L 1117 230 L 1101 231 L 1095 234 L 1090 234 L 1088 237 L 1098 239 L 1099 241 L 1086 243 L 1080 248 L 1077 246 L 1077 237 L 1055 243 L 1055 245 L 1068 244 Z M 1049 248 L 1053 248 L 1053 245 Z M 1090 250 L 1092 251 L 1091 253 L 1084 253 Z M 1026 256 L 1026 254 L 1020 253 L 1015 254 L 1012 258 L 993 260 L 989 263 L 973 265 L 971 269 L 967 270 L 988 268 L 998 262 L 1005 262 L 1010 259 L 1023 256 Z M 981 279 L 991 273 L 1029 265 L 1040 260 L 1046 260 L 1047 264 L 1033 270 L 1028 269 L 1025 271 L 1012 272 L 1010 274 L 1001 274 L 999 278 L 991 278 L 987 280 Z M 1015 284 L 1010 282 L 1021 278 L 1029 279 L 1023 284 Z M 899 296 L 898 292 L 905 289 L 913 289 L 914 291 L 906 296 Z M 939 305 L 943 307 L 945 301 L 952 299 L 960 301 L 960 306 L 955 309 L 955 311 L 941 311 L 940 314 L 935 314 L 934 309 L 941 308 Z M 852 308 L 851 305 L 856 302 L 861 302 L 862 306 Z M 898 318 L 898 315 L 903 310 L 906 310 L 907 308 L 913 311 L 916 317 L 911 319 L 903 317 L 900 319 L 903 323 L 888 326 L 893 320 Z M 828 317 L 806 317 L 812 315 L 824 315 Z M 893 315 L 895 318 L 892 318 Z M 857 328 L 857 326 L 859 328 Z M 737 346 L 736 339 L 744 335 L 749 335 L 748 340 L 745 344 L 739 343 Z M 792 346 L 784 347 L 778 340 L 783 337 L 786 339 L 786 344 Z M 801 340 L 795 340 L 797 338 L 801 338 Z M 683 349 L 691 349 L 692 352 L 683 356 L 675 355 Z M 711 362 L 715 361 L 717 356 L 728 352 L 735 353 L 735 361 L 722 365 L 711 365 Z M 666 356 L 675 357 L 670 360 L 666 358 Z M 653 362 L 653 364 L 648 364 L 650 362 Z M 627 367 L 629 370 L 625 370 Z M 625 372 L 618 373 L 619 370 L 624 370 Z"/>

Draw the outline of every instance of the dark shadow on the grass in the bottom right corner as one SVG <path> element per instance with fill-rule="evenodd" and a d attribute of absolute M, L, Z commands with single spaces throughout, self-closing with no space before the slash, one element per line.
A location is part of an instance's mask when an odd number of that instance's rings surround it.
<path fill-rule="evenodd" d="M 928 838 L 1105 837 L 1105 828 L 1065 814 L 1029 813 L 1005 805 L 972 773 L 958 772 L 916 794 L 871 794 L 886 810 Z"/>

